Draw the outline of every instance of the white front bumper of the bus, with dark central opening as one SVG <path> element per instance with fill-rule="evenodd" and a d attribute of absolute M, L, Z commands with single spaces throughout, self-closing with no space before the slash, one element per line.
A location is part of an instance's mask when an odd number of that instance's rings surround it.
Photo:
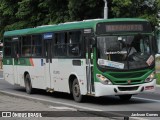
<path fill-rule="evenodd" d="M 103 85 L 95 82 L 95 96 L 105 95 L 127 95 L 139 94 L 143 92 L 154 92 L 156 87 L 156 79 L 152 82 L 136 85 Z"/>

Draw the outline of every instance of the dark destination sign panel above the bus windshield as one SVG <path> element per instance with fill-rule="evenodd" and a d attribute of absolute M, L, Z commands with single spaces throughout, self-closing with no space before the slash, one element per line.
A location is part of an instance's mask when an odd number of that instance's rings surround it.
<path fill-rule="evenodd" d="M 151 32 L 151 25 L 149 22 L 135 22 L 135 21 L 121 21 L 121 22 L 104 22 L 98 23 L 96 26 L 97 34 L 107 33 L 126 33 L 126 32 Z"/>

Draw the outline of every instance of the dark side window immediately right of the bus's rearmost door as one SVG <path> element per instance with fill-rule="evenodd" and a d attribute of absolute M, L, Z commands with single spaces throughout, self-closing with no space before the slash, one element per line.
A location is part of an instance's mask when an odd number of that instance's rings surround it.
<path fill-rule="evenodd" d="M 22 37 L 22 56 L 31 56 L 31 36 Z"/>

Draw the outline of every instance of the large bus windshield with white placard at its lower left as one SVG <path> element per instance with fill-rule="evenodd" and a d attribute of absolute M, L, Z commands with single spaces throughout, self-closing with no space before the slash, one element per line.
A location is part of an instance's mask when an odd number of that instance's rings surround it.
<path fill-rule="evenodd" d="M 98 36 L 98 65 L 105 69 L 142 69 L 154 64 L 151 35 Z"/>

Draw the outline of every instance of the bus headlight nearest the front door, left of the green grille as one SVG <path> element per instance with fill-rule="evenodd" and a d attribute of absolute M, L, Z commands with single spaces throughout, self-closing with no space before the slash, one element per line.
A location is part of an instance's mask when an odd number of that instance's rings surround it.
<path fill-rule="evenodd" d="M 101 74 L 96 74 L 97 79 L 104 85 L 112 85 L 112 82 Z"/>

